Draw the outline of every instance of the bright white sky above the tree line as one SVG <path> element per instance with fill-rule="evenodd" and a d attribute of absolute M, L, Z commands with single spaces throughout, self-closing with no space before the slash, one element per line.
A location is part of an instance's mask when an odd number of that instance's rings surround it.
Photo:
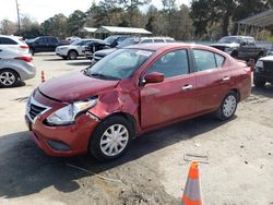
<path fill-rule="evenodd" d="M 96 2 L 98 1 L 96 0 Z M 182 3 L 189 5 L 190 2 L 190 0 L 176 1 L 177 5 Z M 74 10 L 86 11 L 92 5 L 93 0 L 17 0 L 17 2 L 20 13 L 27 14 L 41 23 L 57 13 L 63 13 L 68 16 Z M 162 8 L 162 0 L 152 0 L 152 3 Z M 17 20 L 15 0 L 0 0 L 0 21 L 8 19 L 15 22 Z"/>

